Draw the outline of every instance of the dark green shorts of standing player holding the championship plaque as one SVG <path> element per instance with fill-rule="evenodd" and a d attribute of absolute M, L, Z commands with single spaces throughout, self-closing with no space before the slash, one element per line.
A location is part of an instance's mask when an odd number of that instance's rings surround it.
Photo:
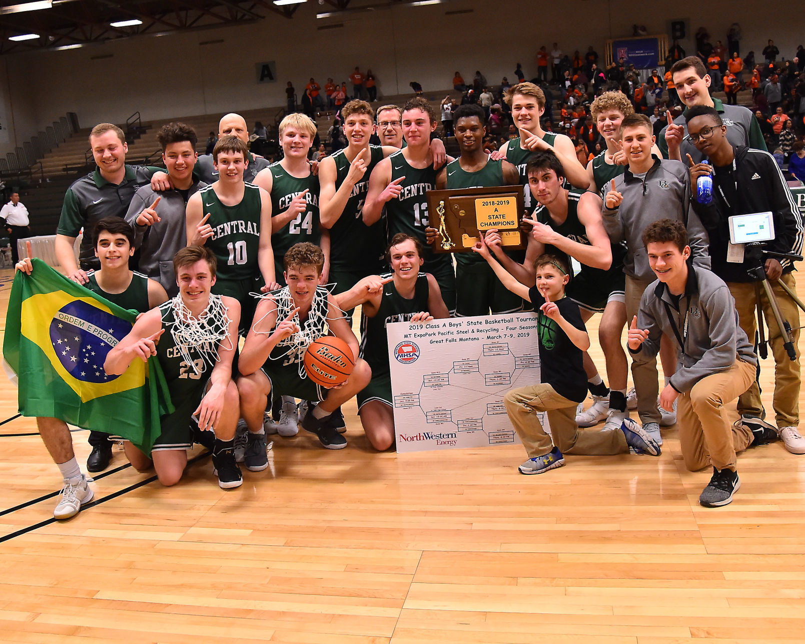
<path fill-rule="evenodd" d="M 503 286 L 487 262 L 456 263 L 456 317 L 522 311 L 522 297 Z"/>

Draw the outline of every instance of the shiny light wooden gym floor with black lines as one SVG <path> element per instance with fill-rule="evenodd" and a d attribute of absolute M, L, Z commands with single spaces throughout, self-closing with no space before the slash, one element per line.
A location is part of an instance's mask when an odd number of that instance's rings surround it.
<path fill-rule="evenodd" d="M 9 291 L 0 271 L 3 321 Z M 274 437 L 228 492 L 208 458 L 163 489 L 116 450 L 97 504 L 55 522 L 35 501 L 59 473 L 0 378 L 2 642 L 805 641 L 805 456 L 779 443 L 706 510 L 674 428 L 659 458 L 524 477 L 519 445 L 375 453 L 353 401 L 348 448 Z"/>

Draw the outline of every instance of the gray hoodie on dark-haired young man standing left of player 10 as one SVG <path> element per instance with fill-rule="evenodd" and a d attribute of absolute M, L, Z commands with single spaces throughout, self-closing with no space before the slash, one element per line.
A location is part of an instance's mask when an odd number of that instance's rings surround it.
<path fill-rule="evenodd" d="M 187 198 L 206 185 L 200 181 L 193 184 Z M 139 213 L 153 204 L 158 196 L 162 197 L 156 206 L 159 221 L 151 226 L 134 223 Z M 126 212 L 126 221 L 134 228 L 134 248 L 140 250 L 140 271 L 162 284 L 171 297 L 179 292 L 173 270 L 173 256 L 187 246 L 188 242 L 185 225 L 187 207 L 187 200 L 178 190 L 154 192 L 150 185 L 145 185 L 134 193 Z"/>

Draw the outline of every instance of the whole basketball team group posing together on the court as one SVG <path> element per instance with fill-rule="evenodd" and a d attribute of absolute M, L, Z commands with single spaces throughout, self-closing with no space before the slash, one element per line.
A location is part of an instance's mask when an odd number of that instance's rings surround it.
<path fill-rule="evenodd" d="M 162 416 L 150 453 L 125 442 L 131 464 L 175 485 L 200 443 L 221 488 L 236 488 L 241 465 L 267 468 L 267 435 L 301 427 L 324 448 L 345 448 L 341 406 L 353 396 L 369 443 L 392 448 L 386 324 L 521 311 L 538 318 L 541 378 L 504 398 L 526 449 L 520 473 L 546 473 L 568 455 L 658 456 L 662 427 L 675 424 L 687 468 L 712 469 L 700 503 L 716 507 L 739 489 L 745 449 L 780 440 L 805 453 L 793 275 L 802 220 L 751 112 L 710 96 L 700 59 L 671 71 L 687 109 L 657 138 L 624 94 L 597 97 L 592 117 L 606 148 L 588 167 L 570 138 L 543 130 L 545 97 L 528 82 L 505 96 L 519 136 L 491 155 L 484 109 L 455 110 L 457 159 L 422 97 L 377 113 L 350 101 L 349 145 L 320 163 L 308 160 L 316 125 L 304 114 L 280 123 L 276 163 L 250 154 L 237 114 L 221 118 L 211 155 L 196 154 L 191 127 L 163 126 L 167 170 L 127 165 L 122 130 L 93 128 L 97 168 L 64 197 L 56 257 L 69 279 L 141 314 L 109 351 L 106 374 L 156 357 L 166 378 L 175 411 Z M 703 176 L 712 180 L 706 198 L 696 189 Z M 470 252 L 431 250 L 440 233 L 427 191 L 518 184 L 524 250 L 494 229 Z M 760 248 L 731 241 L 730 217 L 751 213 L 774 221 L 774 239 Z M 16 268 L 36 270 L 30 259 Z M 774 355 L 774 423 L 758 387 L 759 312 Z M 606 380 L 588 355 L 585 322 L 597 314 Z M 725 406 L 736 399 L 733 423 Z M 93 487 L 64 420 L 37 423 L 64 478 L 54 514 L 72 517 Z M 114 434 L 91 429 L 89 473 L 109 465 Z"/>

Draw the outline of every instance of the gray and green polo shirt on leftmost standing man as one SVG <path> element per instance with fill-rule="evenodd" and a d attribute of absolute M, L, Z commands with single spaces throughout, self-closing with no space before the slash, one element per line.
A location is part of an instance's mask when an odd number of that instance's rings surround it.
<path fill-rule="evenodd" d="M 104 217 L 126 217 L 134 192 L 150 184 L 151 175 L 161 170 L 161 167 L 126 165 L 126 175 L 116 185 L 105 180 L 96 167 L 67 189 L 56 233 L 78 237 L 78 233 L 84 229 L 79 253 L 79 265 L 83 270 L 101 268 L 93 248 L 93 229 L 97 222 Z"/>

